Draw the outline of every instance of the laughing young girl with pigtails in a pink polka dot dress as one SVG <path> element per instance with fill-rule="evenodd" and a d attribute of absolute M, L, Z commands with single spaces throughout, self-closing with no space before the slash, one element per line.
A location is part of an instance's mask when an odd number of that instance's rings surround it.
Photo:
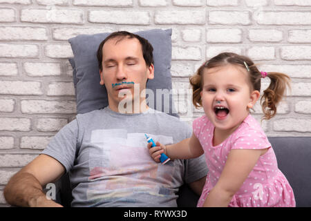
<path fill-rule="evenodd" d="M 270 119 L 290 77 L 260 72 L 248 57 L 234 53 L 210 59 L 190 78 L 194 106 L 205 112 L 194 120 L 192 136 L 167 146 L 157 142 L 151 148 L 149 143 L 156 162 L 161 153 L 171 160 L 205 153 L 209 173 L 198 206 L 295 206 L 292 187 L 278 169 L 270 142 L 249 115 L 264 77 L 271 83 L 261 105 L 264 119 Z"/>

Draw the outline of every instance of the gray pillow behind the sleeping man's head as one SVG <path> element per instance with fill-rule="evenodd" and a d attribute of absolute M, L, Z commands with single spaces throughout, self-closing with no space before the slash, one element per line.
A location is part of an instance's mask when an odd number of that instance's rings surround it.
<path fill-rule="evenodd" d="M 106 87 L 100 85 L 100 69 L 96 53 L 100 43 L 110 34 L 77 35 L 68 40 L 74 55 L 69 62 L 73 66 L 77 113 L 88 113 L 108 106 Z M 147 82 L 147 88 L 153 90 L 155 97 L 149 99 L 149 106 L 178 117 L 173 107 L 171 93 L 169 95 L 158 93 L 156 97 L 156 89 L 171 91 L 171 29 L 145 30 L 135 34 L 144 37 L 153 46 L 155 74 L 154 79 Z"/>

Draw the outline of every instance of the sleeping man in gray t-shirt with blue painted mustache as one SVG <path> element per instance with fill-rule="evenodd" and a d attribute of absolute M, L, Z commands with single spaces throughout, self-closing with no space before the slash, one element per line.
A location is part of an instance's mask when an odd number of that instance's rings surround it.
<path fill-rule="evenodd" d="M 41 186 L 66 172 L 72 206 L 176 206 L 183 180 L 200 194 L 207 173 L 202 157 L 162 165 L 149 156 L 144 133 L 162 144 L 191 135 L 176 117 L 147 106 L 143 95 L 154 77 L 152 50 L 146 39 L 129 32 L 115 32 L 100 44 L 100 84 L 106 86 L 109 106 L 77 115 L 64 126 L 10 179 L 4 189 L 9 204 L 61 206 L 48 200 Z M 123 108 L 127 113 L 121 113 Z"/>

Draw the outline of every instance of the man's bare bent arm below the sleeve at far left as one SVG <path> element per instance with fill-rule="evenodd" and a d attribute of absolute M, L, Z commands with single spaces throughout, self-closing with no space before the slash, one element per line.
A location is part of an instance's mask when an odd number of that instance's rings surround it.
<path fill-rule="evenodd" d="M 41 154 L 11 177 L 3 195 L 15 206 L 61 206 L 46 198 L 42 186 L 54 182 L 64 173 L 65 168 L 60 162 Z"/>

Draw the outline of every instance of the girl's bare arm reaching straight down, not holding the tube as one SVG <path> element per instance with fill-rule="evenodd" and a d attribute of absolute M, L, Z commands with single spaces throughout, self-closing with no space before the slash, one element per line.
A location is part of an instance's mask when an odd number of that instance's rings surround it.
<path fill-rule="evenodd" d="M 203 206 L 228 206 L 233 195 L 241 188 L 259 157 L 266 151 L 267 148 L 260 150 L 234 149 L 230 151 L 223 172 L 214 188 L 207 195 Z"/>

